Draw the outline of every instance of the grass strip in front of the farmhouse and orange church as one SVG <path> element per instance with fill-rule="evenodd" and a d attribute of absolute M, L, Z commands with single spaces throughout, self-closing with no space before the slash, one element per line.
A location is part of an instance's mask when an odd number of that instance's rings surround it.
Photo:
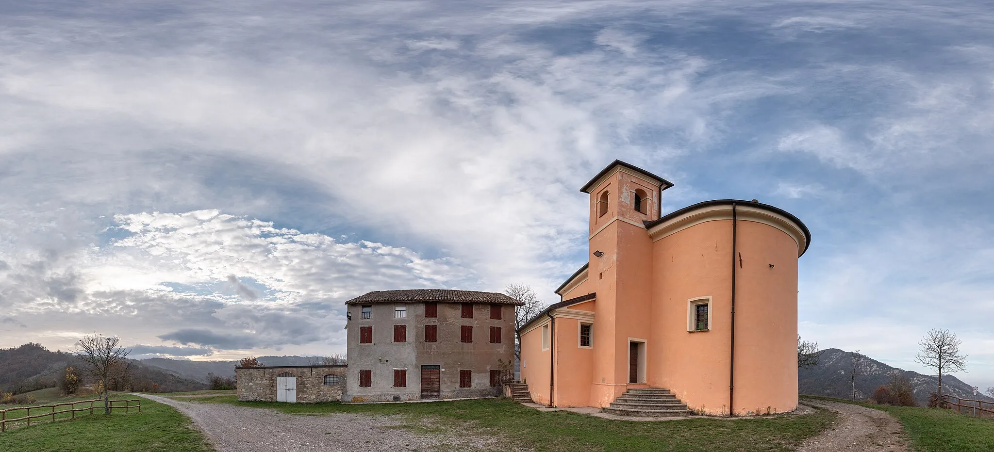
<path fill-rule="evenodd" d="M 536 450 L 777 451 L 792 450 L 835 419 L 830 411 L 753 419 L 683 419 L 661 422 L 610 420 L 569 411 L 543 412 L 508 398 L 427 403 L 240 402 L 233 395 L 189 400 L 233 403 L 286 413 L 399 414 L 418 432 L 468 430 L 506 438 Z"/>

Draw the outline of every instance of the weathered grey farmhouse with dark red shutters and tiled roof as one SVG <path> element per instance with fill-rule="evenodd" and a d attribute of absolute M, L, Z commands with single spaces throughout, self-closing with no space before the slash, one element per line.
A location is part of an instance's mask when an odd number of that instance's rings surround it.
<path fill-rule="evenodd" d="M 348 305 L 348 401 L 499 395 L 514 364 L 514 309 L 502 293 L 370 292 Z"/>

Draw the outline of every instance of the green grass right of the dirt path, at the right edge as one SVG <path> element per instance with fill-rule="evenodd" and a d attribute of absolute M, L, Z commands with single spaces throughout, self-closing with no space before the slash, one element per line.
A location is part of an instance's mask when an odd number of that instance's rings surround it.
<path fill-rule="evenodd" d="M 971 417 L 944 408 L 878 405 L 814 395 L 802 397 L 853 403 L 889 412 L 901 421 L 915 451 L 994 451 L 994 418 Z"/>

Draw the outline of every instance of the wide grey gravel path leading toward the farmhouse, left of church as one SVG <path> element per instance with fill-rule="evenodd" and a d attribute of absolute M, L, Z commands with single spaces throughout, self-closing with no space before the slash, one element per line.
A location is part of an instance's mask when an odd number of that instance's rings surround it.
<path fill-rule="evenodd" d="M 133 395 L 165 403 L 190 416 L 218 452 L 508 450 L 495 437 L 414 433 L 398 428 L 406 423 L 399 416 L 285 414 L 227 403 Z"/>

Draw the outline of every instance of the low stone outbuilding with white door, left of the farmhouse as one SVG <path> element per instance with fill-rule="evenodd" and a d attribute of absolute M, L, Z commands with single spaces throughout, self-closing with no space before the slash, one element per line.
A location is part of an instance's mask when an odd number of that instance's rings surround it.
<path fill-rule="evenodd" d="M 239 400 L 341 401 L 346 366 L 235 368 Z"/>

